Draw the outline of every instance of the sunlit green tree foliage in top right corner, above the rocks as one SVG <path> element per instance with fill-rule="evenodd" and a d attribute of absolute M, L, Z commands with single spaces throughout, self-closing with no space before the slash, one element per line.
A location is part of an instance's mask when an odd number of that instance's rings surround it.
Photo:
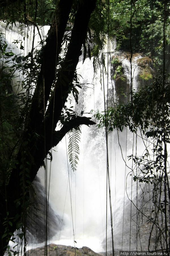
<path fill-rule="evenodd" d="M 161 60 L 163 47 L 163 1 L 111 1 L 113 31 L 119 49 L 153 54 Z M 169 7 L 166 11 L 166 43 L 169 45 Z"/>

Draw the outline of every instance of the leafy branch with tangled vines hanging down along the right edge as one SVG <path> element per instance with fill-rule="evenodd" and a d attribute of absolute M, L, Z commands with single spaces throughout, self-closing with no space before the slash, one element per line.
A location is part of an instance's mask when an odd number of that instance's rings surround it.
<path fill-rule="evenodd" d="M 140 213 L 150 222 L 148 249 L 170 251 L 170 83 L 167 77 L 156 77 L 152 84 L 133 92 L 133 102 L 109 107 L 105 113 L 96 113 L 98 127 L 109 131 L 123 131 L 128 127 L 142 137 L 145 151 L 142 155 L 128 156 L 133 161 L 133 180 L 146 190 L 149 186 L 150 212 L 141 208 Z M 144 194 L 144 192 L 143 192 Z M 146 200 L 145 200 L 146 201 Z M 151 244 L 154 236 L 155 242 Z"/>

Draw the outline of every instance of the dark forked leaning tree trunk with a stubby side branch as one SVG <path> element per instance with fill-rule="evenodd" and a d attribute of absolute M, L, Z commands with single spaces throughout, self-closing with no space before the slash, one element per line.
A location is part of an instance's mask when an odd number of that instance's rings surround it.
<path fill-rule="evenodd" d="M 94 124 L 86 117 L 75 116 L 65 123 L 59 131 L 55 131 L 68 94 L 73 88 L 76 66 L 82 44 L 86 39 L 88 22 L 95 8 L 96 0 L 85 0 L 78 3 L 68 50 L 61 64 L 60 72 L 56 74 L 56 64 L 59 61 L 61 44 L 72 3 L 73 0 L 59 0 L 57 3 L 46 45 L 42 49 L 41 70 L 28 117 L 25 120 L 16 168 L 12 170 L 8 184 L 4 184 L 3 189 L 1 189 L 0 256 L 4 254 L 13 232 L 24 225 L 23 219 L 29 197 L 29 185 L 35 178 L 49 150 L 56 146 L 65 134 L 74 127 L 82 124 Z M 54 81 L 55 89 L 50 97 Z"/>

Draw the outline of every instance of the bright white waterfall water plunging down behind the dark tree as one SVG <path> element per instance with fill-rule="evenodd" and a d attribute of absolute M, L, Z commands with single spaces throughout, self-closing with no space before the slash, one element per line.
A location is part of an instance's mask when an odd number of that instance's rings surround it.
<path fill-rule="evenodd" d="M 45 28 L 46 33 L 48 29 L 49 27 Z M 14 40 L 16 40 L 16 34 L 18 35 L 18 29 L 12 32 L 12 34 L 10 31 L 8 31 L 8 33 L 6 32 L 6 40 L 9 45 L 14 42 Z M 20 38 L 21 36 L 18 37 L 18 40 L 24 40 L 23 38 Z M 38 42 L 39 39 L 36 39 L 36 41 Z M 16 44 L 13 44 L 13 46 L 16 47 Z M 11 47 L 13 48 L 13 46 Z M 24 49 L 27 49 L 27 52 L 31 50 L 31 47 L 31 45 L 26 45 L 25 42 Z M 114 52 L 114 49 L 115 47 L 112 46 L 111 58 L 113 56 L 122 55 L 122 53 L 117 53 L 116 51 Z M 18 48 L 16 49 L 16 54 L 19 54 L 20 52 L 17 51 Z M 107 52 L 107 48 L 105 51 Z M 26 54 L 26 52 L 23 51 L 22 53 Z M 135 77 L 137 76 L 135 61 L 140 57 L 141 56 L 138 55 L 133 60 L 134 84 Z M 121 58 L 122 65 L 126 70 L 126 75 L 129 76 L 129 60 L 125 56 Z M 104 110 L 103 85 L 100 83 L 100 72 L 94 78 L 92 61 L 93 58 L 91 61 L 86 59 L 82 65 L 82 60 L 80 60 L 77 66 L 77 73 L 81 75 L 79 79 L 80 83 L 82 84 L 82 89 L 80 90 L 79 94 L 79 104 L 75 104 L 75 111 L 78 113 L 78 115 L 80 115 L 80 113 L 83 111 L 84 116 L 90 116 L 88 113 L 90 113 L 91 110 Z M 109 69 L 111 69 L 110 63 Z M 111 70 L 109 70 L 108 73 L 108 86 L 109 90 L 112 90 L 113 81 L 111 81 Z M 17 84 L 16 81 L 14 81 L 14 84 L 15 83 Z M 104 83 L 107 87 L 107 77 L 105 77 Z M 113 91 L 113 95 L 115 95 L 115 91 Z M 71 105 L 73 102 L 74 100 L 71 102 Z M 94 251 L 100 252 L 104 251 L 106 246 L 107 168 L 105 129 L 98 129 L 95 126 L 86 127 L 84 125 L 81 127 L 81 132 L 81 142 L 79 144 L 80 156 L 76 172 L 71 172 L 71 168 L 68 163 L 68 136 L 63 138 L 58 146 L 55 147 L 52 151 L 53 160 L 49 182 L 49 203 L 52 206 L 56 216 L 59 216 L 61 219 L 63 219 L 63 222 L 62 225 L 60 222 L 59 225 L 61 225 L 61 227 L 58 227 L 56 234 L 52 239 L 50 239 L 50 242 L 56 244 L 74 245 L 75 240 L 76 247 L 88 246 Z M 126 158 L 126 156 L 132 153 L 131 150 L 133 146 L 133 138 L 128 133 L 128 138 L 126 139 L 126 130 L 124 130 L 123 133 L 119 134 L 119 141 L 122 146 L 122 153 L 118 145 L 117 132 L 113 131 L 109 134 L 109 168 L 111 174 L 111 199 L 115 242 L 114 246 L 115 248 L 121 249 L 123 243 L 123 249 L 129 249 L 129 230 L 134 229 L 132 228 L 132 224 L 130 226 L 130 203 L 128 203 L 129 201 L 125 192 L 126 175 L 128 174 L 129 170 L 126 168 L 125 163 L 122 160 L 122 154 L 124 158 Z M 131 168 L 131 162 L 128 162 L 128 165 Z M 50 163 L 48 170 L 50 170 Z M 39 170 L 38 177 L 40 178 L 43 185 L 43 169 Z M 133 191 L 136 192 L 136 187 L 134 185 Z M 127 192 L 131 198 L 131 178 L 127 180 Z M 134 199 L 135 195 L 136 193 L 133 193 L 132 199 Z M 73 221 L 71 207 L 73 213 Z M 134 208 L 133 212 L 135 212 Z M 53 219 L 49 221 L 53 221 Z M 109 238 L 107 245 L 108 249 L 111 249 L 109 207 L 107 225 L 107 236 Z M 73 237 L 73 228 L 75 237 Z M 44 234 L 42 234 L 42 236 L 44 236 Z M 37 244 L 33 246 L 37 246 Z M 134 234 L 131 234 L 131 249 L 135 249 Z"/>

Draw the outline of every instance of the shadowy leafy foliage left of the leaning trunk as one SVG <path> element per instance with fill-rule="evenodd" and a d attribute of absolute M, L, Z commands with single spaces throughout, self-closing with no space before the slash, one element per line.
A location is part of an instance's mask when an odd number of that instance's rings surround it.
<path fill-rule="evenodd" d="M 27 109 L 32 97 L 30 92 L 41 63 L 39 51 L 35 49 L 34 54 L 29 52 L 24 56 L 23 42 L 14 40 L 13 43 L 20 49 L 20 54 L 14 53 L 4 34 L 0 33 L 0 185 L 4 182 L 8 184 L 10 172 L 18 164 L 16 156 L 27 123 Z"/>

